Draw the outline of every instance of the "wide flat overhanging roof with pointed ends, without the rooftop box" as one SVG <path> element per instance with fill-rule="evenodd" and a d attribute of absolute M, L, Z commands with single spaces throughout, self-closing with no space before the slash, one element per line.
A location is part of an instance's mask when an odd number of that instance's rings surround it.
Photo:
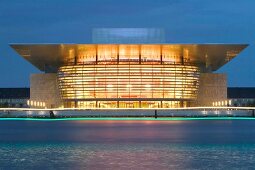
<path fill-rule="evenodd" d="M 10 44 L 10 46 L 24 59 L 29 61 L 41 71 L 46 67 L 58 68 L 65 63 L 70 50 L 78 54 L 81 48 L 86 49 L 95 45 L 111 44 Z M 112 44 L 120 45 L 120 44 Z M 132 45 L 132 44 L 122 44 Z M 189 62 L 199 64 L 215 71 L 236 57 L 248 44 L 133 44 L 167 46 L 169 49 L 178 49 L 182 54 L 184 50 L 189 52 Z"/>

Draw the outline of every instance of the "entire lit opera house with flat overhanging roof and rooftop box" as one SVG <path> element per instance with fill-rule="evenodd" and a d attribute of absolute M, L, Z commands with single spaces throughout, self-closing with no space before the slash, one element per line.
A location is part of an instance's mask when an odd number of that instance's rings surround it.
<path fill-rule="evenodd" d="M 42 71 L 30 77 L 31 107 L 176 108 L 228 105 L 214 73 L 247 44 L 171 44 L 152 28 L 94 29 L 92 43 L 11 44 Z"/>

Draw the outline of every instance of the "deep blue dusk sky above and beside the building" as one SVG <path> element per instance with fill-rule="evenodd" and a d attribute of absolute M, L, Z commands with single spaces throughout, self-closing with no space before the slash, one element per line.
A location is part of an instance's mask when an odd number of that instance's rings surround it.
<path fill-rule="evenodd" d="M 90 43 L 93 28 L 163 28 L 168 43 L 245 43 L 218 73 L 255 86 L 255 0 L 0 0 L 0 87 L 40 73 L 9 43 Z"/>

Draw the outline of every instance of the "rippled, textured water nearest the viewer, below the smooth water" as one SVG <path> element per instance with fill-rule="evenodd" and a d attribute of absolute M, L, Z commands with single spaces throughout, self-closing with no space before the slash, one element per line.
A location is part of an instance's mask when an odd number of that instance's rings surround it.
<path fill-rule="evenodd" d="M 3 169 L 233 169 L 255 166 L 255 145 L 0 144 Z"/>

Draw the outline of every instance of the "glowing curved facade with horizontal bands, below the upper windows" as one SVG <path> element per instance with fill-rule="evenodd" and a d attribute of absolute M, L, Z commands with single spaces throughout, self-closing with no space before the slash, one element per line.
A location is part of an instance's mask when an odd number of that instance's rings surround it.
<path fill-rule="evenodd" d="M 87 107 L 108 107 L 122 104 L 119 99 L 138 99 L 128 107 L 177 107 L 179 104 L 158 103 L 156 100 L 194 100 L 198 89 L 198 68 L 189 65 L 75 65 L 60 67 L 59 89 L 63 100 L 86 100 L 79 103 Z M 97 99 L 111 100 L 101 104 L 91 103 Z M 150 101 L 143 104 L 141 101 Z M 85 102 L 85 101 L 84 101 Z M 125 103 L 125 102 L 124 102 Z M 152 104 L 150 104 L 152 103 Z M 168 104 L 167 104 L 168 103 Z M 169 106 L 168 106 L 169 105 Z M 176 105 L 176 106 L 175 106 Z M 124 107 L 124 106 L 123 106 Z"/>

